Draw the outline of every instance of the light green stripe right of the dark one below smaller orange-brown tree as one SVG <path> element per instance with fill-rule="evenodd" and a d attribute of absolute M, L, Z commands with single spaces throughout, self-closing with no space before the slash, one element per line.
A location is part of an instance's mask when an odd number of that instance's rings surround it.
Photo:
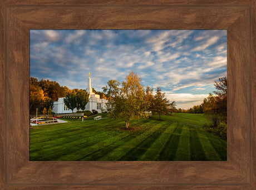
<path fill-rule="evenodd" d="M 189 126 L 183 124 L 183 130 L 180 136 L 179 145 L 176 151 L 174 161 L 190 161 L 190 130 Z"/>

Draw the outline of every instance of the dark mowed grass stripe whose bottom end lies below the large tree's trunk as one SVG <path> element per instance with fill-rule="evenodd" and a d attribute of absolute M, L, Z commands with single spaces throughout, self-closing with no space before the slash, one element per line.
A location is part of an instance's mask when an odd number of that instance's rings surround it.
<path fill-rule="evenodd" d="M 121 157 L 119 161 L 136 161 L 151 147 L 151 144 L 155 142 L 161 134 L 163 134 L 169 123 L 163 122 L 158 126 L 158 129 L 150 134 L 144 141 L 141 141 L 136 147 L 132 148 L 125 156 Z"/>

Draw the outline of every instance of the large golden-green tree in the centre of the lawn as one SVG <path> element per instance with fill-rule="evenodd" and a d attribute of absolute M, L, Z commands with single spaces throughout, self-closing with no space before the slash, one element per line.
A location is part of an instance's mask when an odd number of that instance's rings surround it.
<path fill-rule="evenodd" d="M 109 98 L 109 116 L 122 119 L 129 128 L 131 120 L 137 120 L 144 116 L 144 87 L 141 85 L 141 78 L 134 72 L 126 76 L 125 81 L 110 80 L 103 88 Z"/>

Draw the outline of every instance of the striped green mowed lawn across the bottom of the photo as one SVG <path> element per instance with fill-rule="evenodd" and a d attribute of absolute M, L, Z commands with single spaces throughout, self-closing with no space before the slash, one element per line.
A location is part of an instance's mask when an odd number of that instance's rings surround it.
<path fill-rule="evenodd" d="M 203 114 L 125 122 L 65 119 L 30 129 L 31 161 L 226 161 L 227 142 L 205 132 Z"/>

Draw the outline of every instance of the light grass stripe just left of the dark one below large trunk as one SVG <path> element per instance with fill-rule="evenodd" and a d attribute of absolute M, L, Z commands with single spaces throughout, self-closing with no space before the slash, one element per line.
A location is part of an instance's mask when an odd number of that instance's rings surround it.
<path fill-rule="evenodd" d="M 115 148 L 112 152 L 101 157 L 99 161 L 118 161 L 121 157 L 125 156 L 127 152 L 136 147 L 158 129 L 157 124 L 159 124 L 159 121 L 151 121 L 149 124 L 151 127 L 147 131 L 130 139 L 130 141 L 122 144 L 120 147 Z"/>

